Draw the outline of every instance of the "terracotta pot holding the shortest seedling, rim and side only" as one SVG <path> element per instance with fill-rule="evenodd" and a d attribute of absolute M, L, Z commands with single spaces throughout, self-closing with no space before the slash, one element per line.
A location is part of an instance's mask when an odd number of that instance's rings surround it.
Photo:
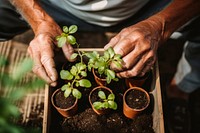
<path fill-rule="evenodd" d="M 112 93 L 112 90 L 108 87 L 105 87 L 105 86 L 97 86 L 95 88 L 92 89 L 92 91 L 90 92 L 89 94 L 89 102 L 90 102 L 90 105 L 92 107 L 92 109 L 94 110 L 95 113 L 97 113 L 98 115 L 103 115 L 103 114 L 107 114 L 110 109 L 101 109 L 101 110 L 97 110 L 93 107 L 93 102 L 91 101 L 91 97 L 92 97 L 92 94 L 95 92 L 95 91 L 98 91 L 99 89 L 101 89 L 102 91 L 103 90 L 107 90 L 109 91 L 110 93 Z"/>

